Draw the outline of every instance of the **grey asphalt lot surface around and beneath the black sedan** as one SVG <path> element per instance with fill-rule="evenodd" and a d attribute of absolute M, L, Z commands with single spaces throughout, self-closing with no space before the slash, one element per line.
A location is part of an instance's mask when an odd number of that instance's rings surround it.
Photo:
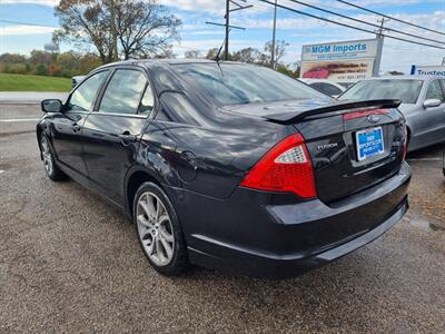
<path fill-rule="evenodd" d="M 121 212 L 44 176 L 39 109 L 0 104 L 0 332 L 445 332 L 443 147 L 409 155 L 403 222 L 336 263 L 286 281 L 166 278 Z"/>

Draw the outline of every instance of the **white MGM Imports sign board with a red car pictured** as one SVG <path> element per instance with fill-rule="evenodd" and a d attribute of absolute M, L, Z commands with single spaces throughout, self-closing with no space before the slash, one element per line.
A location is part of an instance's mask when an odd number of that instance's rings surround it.
<path fill-rule="evenodd" d="M 379 39 L 304 46 L 300 78 L 355 82 L 378 73 Z"/>

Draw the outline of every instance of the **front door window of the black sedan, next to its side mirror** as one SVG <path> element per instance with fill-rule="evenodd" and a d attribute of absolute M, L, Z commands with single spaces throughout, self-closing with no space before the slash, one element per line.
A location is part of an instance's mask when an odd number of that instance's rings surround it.
<path fill-rule="evenodd" d="M 92 75 L 85 80 L 71 95 L 66 111 L 89 111 L 96 100 L 99 88 L 108 76 L 107 71 Z"/>

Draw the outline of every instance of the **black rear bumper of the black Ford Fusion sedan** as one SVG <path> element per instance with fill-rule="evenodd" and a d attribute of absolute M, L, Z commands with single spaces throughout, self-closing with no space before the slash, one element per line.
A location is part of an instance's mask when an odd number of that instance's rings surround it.
<path fill-rule="evenodd" d="M 366 245 L 394 226 L 408 209 L 409 180 L 411 169 L 404 164 L 378 186 L 329 206 L 318 199 L 260 205 L 240 189 L 227 202 L 207 203 L 206 228 L 186 224 L 190 262 L 254 277 L 296 276 Z M 206 204 L 200 205 L 206 212 Z"/>

